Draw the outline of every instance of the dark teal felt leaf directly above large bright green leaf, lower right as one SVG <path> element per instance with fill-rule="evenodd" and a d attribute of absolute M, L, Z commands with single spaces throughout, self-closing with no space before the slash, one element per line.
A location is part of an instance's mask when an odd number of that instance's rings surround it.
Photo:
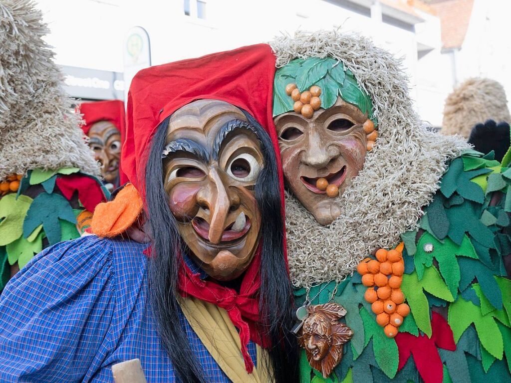
<path fill-rule="evenodd" d="M 461 274 L 459 290 L 465 290 L 474 278 L 477 278 L 484 296 L 494 307 L 500 310 L 502 308 L 502 295 L 499 285 L 494 278 L 493 271 L 476 259 L 459 258 L 458 264 Z"/>

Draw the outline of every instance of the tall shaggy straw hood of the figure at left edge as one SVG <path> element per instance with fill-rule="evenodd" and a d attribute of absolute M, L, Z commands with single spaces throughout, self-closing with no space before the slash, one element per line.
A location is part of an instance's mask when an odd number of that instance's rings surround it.
<path fill-rule="evenodd" d="M 0 180 L 66 166 L 99 175 L 41 20 L 31 0 L 0 0 Z"/>

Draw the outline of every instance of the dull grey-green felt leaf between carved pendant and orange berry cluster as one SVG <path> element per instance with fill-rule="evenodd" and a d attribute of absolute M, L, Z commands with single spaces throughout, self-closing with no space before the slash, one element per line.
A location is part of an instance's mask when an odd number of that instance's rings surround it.
<path fill-rule="evenodd" d="M 365 302 L 365 287 L 363 285 L 354 285 L 349 283 L 340 296 L 336 296 L 334 301 L 346 309 L 346 325 L 353 330 L 353 338 L 350 343 L 357 355 L 362 353 L 365 347 L 364 323 L 359 312 L 359 303 Z"/>

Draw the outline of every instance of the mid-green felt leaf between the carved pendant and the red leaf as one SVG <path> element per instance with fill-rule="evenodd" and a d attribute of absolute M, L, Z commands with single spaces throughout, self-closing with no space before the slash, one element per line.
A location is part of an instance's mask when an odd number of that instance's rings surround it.
<path fill-rule="evenodd" d="M 399 352 L 396 341 L 385 335 L 383 328 L 376 323 L 376 320 L 364 307 L 360 309 L 360 316 L 364 322 L 365 344 L 367 345 L 369 340 L 373 339 L 373 352 L 376 363 L 378 363 L 378 366 L 385 375 L 390 378 L 394 377 L 398 372 L 399 364 Z"/>

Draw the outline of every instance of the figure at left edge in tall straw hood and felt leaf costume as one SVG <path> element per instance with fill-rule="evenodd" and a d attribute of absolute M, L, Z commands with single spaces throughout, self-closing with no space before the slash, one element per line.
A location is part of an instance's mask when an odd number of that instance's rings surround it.
<path fill-rule="evenodd" d="M 42 249 L 78 238 L 88 221 L 77 226 L 76 216 L 108 194 L 41 18 L 30 1 L 0 4 L 0 290 Z"/>

